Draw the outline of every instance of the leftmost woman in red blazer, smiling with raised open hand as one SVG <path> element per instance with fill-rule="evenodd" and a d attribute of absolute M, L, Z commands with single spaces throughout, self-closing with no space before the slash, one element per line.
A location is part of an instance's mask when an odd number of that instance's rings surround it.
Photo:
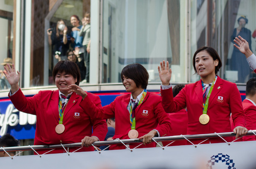
<path fill-rule="evenodd" d="M 21 92 L 18 86 L 20 72 L 17 71 L 16 74 L 14 64 L 12 68 L 10 65 L 5 66 L 5 75 L 11 85 L 9 98 L 15 108 L 37 117 L 34 145 L 79 143 L 83 138 L 90 143 L 104 140 L 108 131 L 105 120 L 90 119 L 79 106 L 82 97 L 67 90 L 67 86 L 71 84 L 79 85 L 80 71 L 75 62 L 59 61 L 53 69 L 53 80 L 58 90 L 40 91 L 33 97 L 25 97 Z M 61 95 L 70 97 L 70 99 L 62 99 Z M 87 95 L 97 107 L 102 107 L 99 96 L 92 93 L 87 93 Z M 65 104 L 63 110 L 60 103 Z M 78 148 L 73 147 L 69 150 L 73 152 L 76 149 Z M 49 149 L 37 150 L 39 154 L 48 151 Z M 79 151 L 93 151 L 93 147 L 84 147 Z M 64 149 L 55 149 L 50 153 L 61 152 L 65 152 Z"/>

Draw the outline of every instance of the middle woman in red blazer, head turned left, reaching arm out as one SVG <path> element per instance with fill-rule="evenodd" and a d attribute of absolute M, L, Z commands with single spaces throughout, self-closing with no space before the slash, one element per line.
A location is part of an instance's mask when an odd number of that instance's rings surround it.
<path fill-rule="evenodd" d="M 138 148 L 155 147 L 156 144 L 151 143 L 151 138 L 168 135 L 171 122 L 163 110 L 160 95 L 146 91 L 148 77 L 147 70 L 139 63 L 125 66 L 121 78 L 126 92 L 129 93 L 116 97 L 111 104 L 102 108 L 95 106 L 79 86 L 71 85 L 69 89 L 83 97 L 80 106 L 92 119 L 116 118 L 113 139 L 139 138 L 143 139 L 144 146 Z M 133 104 L 138 104 L 137 108 Z M 89 144 L 86 140 L 82 140 L 82 143 Z M 139 144 L 132 143 L 129 146 L 134 148 Z M 110 149 L 125 149 L 125 146 L 112 145 Z"/>

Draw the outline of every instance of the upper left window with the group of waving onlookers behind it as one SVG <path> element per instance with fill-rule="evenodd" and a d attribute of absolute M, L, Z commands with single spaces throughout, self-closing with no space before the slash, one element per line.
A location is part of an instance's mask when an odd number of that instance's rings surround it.
<path fill-rule="evenodd" d="M 90 0 L 64 0 L 57 10 L 52 8 L 46 18 L 50 18 L 46 20 L 48 27 L 45 28 L 49 50 L 44 56 L 49 55 L 49 85 L 54 84 L 52 70 L 60 60 L 75 61 L 81 72 L 81 83 L 85 83 L 86 63 L 89 62 L 85 62 L 89 55 L 85 47 L 90 41 Z M 85 38 L 88 39 L 86 42 Z"/>

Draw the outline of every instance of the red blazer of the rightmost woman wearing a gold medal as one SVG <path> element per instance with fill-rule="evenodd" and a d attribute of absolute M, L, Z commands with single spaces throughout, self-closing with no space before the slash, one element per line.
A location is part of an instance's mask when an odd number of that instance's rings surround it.
<path fill-rule="evenodd" d="M 200 115 L 203 114 L 203 90 L 201 80 L 196 83 L 185 85 L 179 94 L 173 98 L 172 88 L 162 90 L 162 105 L 167 113 L 177 112 L 187 106 L 188 112 L 188 135 L 208 134 L 214 132 L 232 132 L 230 126 L 230 112 L 234 125 L 246 125 L 246 120 L 242 108 L 241 95 L 235 83 L 217 78 L 212 94 L 209 97 L 209 106 L 207 115 L 210 120 L 207 124 L 199 122 Z M 227 141 L 233 140 L 233 137 L 225 137 Z M 195 143 L 200 143 L 198 140 Z M 223 142 L 221 138 L 211 138 L 204 143 Z"/>

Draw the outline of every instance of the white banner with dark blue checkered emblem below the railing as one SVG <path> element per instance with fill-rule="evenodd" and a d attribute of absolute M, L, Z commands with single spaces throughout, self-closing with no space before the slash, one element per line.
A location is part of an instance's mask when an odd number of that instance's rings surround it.
<path fill-rule="evenodd" d="M 255 149 L 256 141 L 247 141 L 5 157 L 0 163 L 13 169 L 255 169 Z"/>

